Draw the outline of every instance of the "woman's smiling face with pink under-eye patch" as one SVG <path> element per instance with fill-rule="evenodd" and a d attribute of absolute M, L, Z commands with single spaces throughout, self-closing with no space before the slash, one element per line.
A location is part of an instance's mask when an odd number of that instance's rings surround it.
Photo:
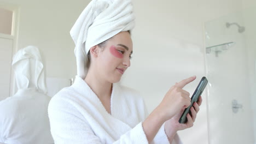
<path fill-rule="evenodd" d="M 120 81 L 130 67 L 132 40 L 129 32 L 120 32 L 109 39 L 96 58 L 96 68 L 101 78 L 108 82 Z"/>

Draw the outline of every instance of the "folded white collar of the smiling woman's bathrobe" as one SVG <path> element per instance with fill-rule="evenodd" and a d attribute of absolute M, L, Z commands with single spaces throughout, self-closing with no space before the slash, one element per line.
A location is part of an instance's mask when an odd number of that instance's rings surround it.
<path fill-rule="evenodd" d="M 73 87 L 80 95 L 86 97 L 86 99 L 96 107 L 97 111 L 103 116 L 104 121 L 107 121 L 111 125 L 110 129 L 119 129 L 113 130 L 113 132 L 119 131 L 119 133 L 116 134 L 117 136 L 120 136 L 120 134 L 124 134 L 128 130 L 132 129 L 132 125 L 123 122 L 124 116 L 128 118 L 127 116 L 129 116 L 130 111 L 126 110 L 126 112 L 124 112 L 123 110 L 126 109 L 125 107 L 127 107 L 127 105 L 124 105 L 126 104 L 123 95 L 124 92 L 118 83 L 113 83 L 112 85 L 112 94 L 110 100 L 111 115 L 104 108 L 97 95 L 80 76 L 75 77 L 75 81 L 71 87 Z M 115 101 L 119 103 L 115 103 Z"/>

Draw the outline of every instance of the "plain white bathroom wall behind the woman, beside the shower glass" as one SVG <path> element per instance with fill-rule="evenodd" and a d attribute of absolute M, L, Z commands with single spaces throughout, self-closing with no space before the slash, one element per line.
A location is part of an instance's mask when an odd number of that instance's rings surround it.
<path fill-rule="evenodd" d="M 69 31 L 88 1 L 1 2 L 20 5 L 18 48 L 38 46 L 47 77 L 74 77 L 74 44 Z M 133 1 L 137 23 L 132 33 L 134 54 L 122 82 L 142 92 L 149 112 L 175 82 L 196 75 L 195 82 L 185 87 L 193 93 L 205 75 L 203 22 L 241 9 L 241 4 L 241 0 Z M 179 133 L 185 144 L 208 143 L 205 94 L 194 127 Z"/>

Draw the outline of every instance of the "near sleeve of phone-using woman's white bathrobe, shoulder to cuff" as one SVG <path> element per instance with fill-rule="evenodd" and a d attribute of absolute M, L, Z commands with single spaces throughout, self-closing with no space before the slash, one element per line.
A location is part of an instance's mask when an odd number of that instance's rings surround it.
<path fill-rule="evenodd" d="M 138 143 L 147 144 L 147 137 L 144 134 L 142 123 L 137 124 L 133 129 L 121 135 L 117 141 L 106 140 L 101 141 L 91 129 L 90 125 L 82 115 L 80 115 L 75 107 L 63 99 L 51 99 L 48 113 L 50 118 L 51 134 L 53 135 L 55 144 L 63 143 Z M 106 135 L 108 135 L 106 133 Z"/>

